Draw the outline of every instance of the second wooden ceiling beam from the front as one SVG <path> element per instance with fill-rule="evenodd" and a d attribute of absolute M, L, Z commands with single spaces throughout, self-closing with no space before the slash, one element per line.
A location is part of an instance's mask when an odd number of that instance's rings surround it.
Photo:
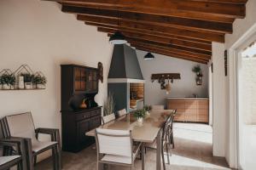
<path fill-rule="evenodd" d="M 158 26 L 170 26 L 186 30 L 210 31 L 217 33 L 232 33 L 232 23 L 221 23 L 207 20 L 193 20 L 185 18 L 177 18 L 170 16 L 160 16 L 155 14 L 139 14 L 131 12 L 118 12 L 114 10 L 84 8 L 63 5 L 62 12 L 87 14 L 91 16 L 99 16 L 103 18 L 116 18 L 126 21 L 140 21 L 141 23 L 154 24 Z"/>

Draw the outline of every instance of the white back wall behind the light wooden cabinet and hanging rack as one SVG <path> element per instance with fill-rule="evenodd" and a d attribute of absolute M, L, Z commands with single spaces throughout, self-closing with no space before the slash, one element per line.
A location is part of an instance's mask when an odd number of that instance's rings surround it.
<path fill-rule="evenodd" d="M 145 103 L 148 105 L 165 105 L 166 97 L 192 97 L 198 94 L 199 97 L 208 97 L 208 67 L 201 65 L 203 73 L 203 84 L 197 86 L 195 73 L 192 68 L 197 65 L 195 62 L 154 54 L 155 59 L 144 60 L 144 51 L 137 50 L 137 58 L 141 66 L 145 82 Z M 160 89 L 160 83 L 151 82 L 151 75 L 155 73 L 180 73 L 181 80 L 174 80 L 171 84 L 171 94 Z M 154 96 L 154 97 L 153 97 Z"/>

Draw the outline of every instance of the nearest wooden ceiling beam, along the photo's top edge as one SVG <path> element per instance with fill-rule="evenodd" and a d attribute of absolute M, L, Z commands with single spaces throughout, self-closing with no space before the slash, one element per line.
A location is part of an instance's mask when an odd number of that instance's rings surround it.
<path fill-rule="evenodd" d="M 58 0 L 55 0 L 58 1 Z M 144 14 L 160 14 L 199 20 L 219 18 L 244 18 L 245 4 L 215 3 L 190 0 L 62 0 L 62 4 L 79 5 L 89 8 L 106 8 Z"/>

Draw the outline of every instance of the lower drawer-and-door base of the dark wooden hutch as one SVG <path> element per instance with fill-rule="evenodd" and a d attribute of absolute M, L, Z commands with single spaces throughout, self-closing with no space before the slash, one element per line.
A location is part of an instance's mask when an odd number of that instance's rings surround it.
<path fill-rule="evenodd" d="M 75 112 L 61 111 L 62 150 L 79 152 L 94 144 L 95 139 L 85 133 L 101 125 L 101 115 L 101 107 Z"/>

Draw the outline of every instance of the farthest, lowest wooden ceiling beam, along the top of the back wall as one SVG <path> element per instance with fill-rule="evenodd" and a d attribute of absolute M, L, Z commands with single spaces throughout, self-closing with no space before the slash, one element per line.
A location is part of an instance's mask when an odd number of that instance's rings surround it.
<path fill-rule="evenodd" d="M 131 44 L 131 46 L 138 49 L 138 50 L 143 50 L 145 52 L 150 52 L 150 53 L 155 53 L 155 54 L 162 54 L 162 55 L 166 55 L 166 56 L 177 58 L 177 59 L 185 59 L 185 60 L 194 61 L 194 62 L 198 62 L 198 63 L 202 63 L 202 64 L 207 64 L 207 62 L 208 62 L 208 60 L 206 60 L 206 59 L 188 58 L 188 57 L 184 57 L 183 55 L 168 53 L 165 50 L 148 48 L 148 47 L 140 47 L 140 46 L 136 46 L 135 44 Z"/>

